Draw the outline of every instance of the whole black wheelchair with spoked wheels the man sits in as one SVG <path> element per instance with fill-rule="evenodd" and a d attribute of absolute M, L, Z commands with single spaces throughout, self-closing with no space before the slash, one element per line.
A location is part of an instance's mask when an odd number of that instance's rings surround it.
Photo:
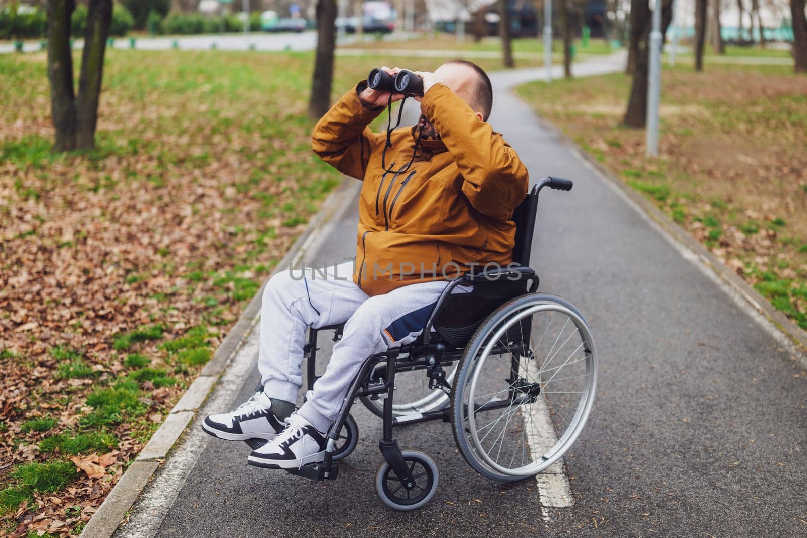
<path fill-rule="evenodd" d="M 501 482 L 534 477 L 562 458 L 592 409 L 597 361 L 583 315 L 558 296 L 537 293 L 538 277 L 529 268 L 538 193 L 546 186 L 571 190 L 572 182 L 546 177 L 516 208 L 514 264 L 449 281 L 418 340 L 362 363 L 328 432 L 324 461 L 286 470 L 312 480 L 336 479 L 339 461 L 358 440 L 350 415 L 357 400 L 383 420 L 383 462 L 374 484 L 395 510 L 429 503 L 439 483 L 431 457 L 399 448 L 393 431 L 404 424 L 450 422 L 468 465 Z M 458 286 L 466 286 L 466 293 L 452 293 Z M 309 330 L 309 390 L 317 379 L 319 333 L 332 331 L 338 341 L 343 328 Z"/>

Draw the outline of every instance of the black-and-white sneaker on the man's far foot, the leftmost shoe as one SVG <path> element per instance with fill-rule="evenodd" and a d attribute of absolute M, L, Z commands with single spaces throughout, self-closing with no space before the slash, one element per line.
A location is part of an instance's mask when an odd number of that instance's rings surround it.
<path fill-rule="evenodd" d="M 261 390 L 231 413 L 210 415 L 204 419 L 202 429 L 211 436 L 232 441 L 272 440 L 284 425 L 271 408 L 269 396 Z"/>

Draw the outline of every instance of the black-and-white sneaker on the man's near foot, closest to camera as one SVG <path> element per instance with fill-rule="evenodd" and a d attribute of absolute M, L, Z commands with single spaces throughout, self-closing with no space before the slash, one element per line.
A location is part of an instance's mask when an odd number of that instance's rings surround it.
<path fill-rule="evenodd" d="M 299 469 L 324 461 L 326 444 L 326 434 L 295 413 L 286 421 L 286 429 L 249 454 L 247 463 L 265 469 Z"/>

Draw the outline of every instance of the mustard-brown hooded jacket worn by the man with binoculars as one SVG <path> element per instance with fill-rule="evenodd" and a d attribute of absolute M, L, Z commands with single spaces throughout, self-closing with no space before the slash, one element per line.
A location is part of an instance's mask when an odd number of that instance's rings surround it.
<path fill-rule="evenodd" d="M 512 211 L 525 198 L 528 176 L 516 152 L 445 84 L 420 103 L 441 140 L 420 140 L 409 127 L 387 137 L 368 124 L 360 82 L 314 128 L 313 149 L 350 177 L 363 180 L 353 281 L 368 295 L 424 280 L 445 280 L 487 263 L 512 260 Z"/>

